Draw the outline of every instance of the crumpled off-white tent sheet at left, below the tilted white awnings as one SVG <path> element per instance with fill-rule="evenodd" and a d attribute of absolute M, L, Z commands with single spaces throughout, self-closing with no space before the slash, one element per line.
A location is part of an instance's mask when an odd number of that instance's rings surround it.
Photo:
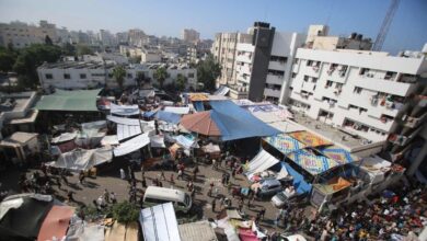
<path fill-rule="evenodd" d="M 113 159 L 112 148 L 76 149 L 61 153 L 57 161 L 48 163 L 51 167 L 68 169 L 71 171 L 85 171 Z"/>

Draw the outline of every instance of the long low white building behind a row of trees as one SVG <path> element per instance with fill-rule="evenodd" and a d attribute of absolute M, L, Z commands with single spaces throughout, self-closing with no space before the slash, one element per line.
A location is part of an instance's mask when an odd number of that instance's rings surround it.
<path fill-rule="evenodd" d="M 117 87 L 113 77 L 113 69 L 116 66 L 114 61 L 66 61 L 56 64 L 44 64 L 37 68 L 41 85 L 45 90 L 51 88 L 76 90 L 90 89 L 99 87 Z M 187 87 L 197 87 L 197 70 L 187 65 L 165 65 L 165 64 L 146 64 L 146 65 L 123 65 L 126 69 L 124 81 L 125 87 L 136 85 L 136 77 L 139 72 L 146 78 L 150 78 L 155 83 L 154 72 L 158 68 L 164 67 L 169 78 L 164 84 L 176 80 L 177 74 L 187 78 Z"/>

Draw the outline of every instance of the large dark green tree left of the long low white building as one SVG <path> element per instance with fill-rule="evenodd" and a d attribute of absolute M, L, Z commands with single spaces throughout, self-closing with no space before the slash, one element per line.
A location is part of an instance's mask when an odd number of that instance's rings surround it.
<path fill-rule="evenodd" d="M 56 62 L 61 56 L 61 48 L 55 45 L 34 44 L 20 50 L 13 70 L 26 81 L 25 88 L 38 84 L 37 67 L 44 62 Z"/>

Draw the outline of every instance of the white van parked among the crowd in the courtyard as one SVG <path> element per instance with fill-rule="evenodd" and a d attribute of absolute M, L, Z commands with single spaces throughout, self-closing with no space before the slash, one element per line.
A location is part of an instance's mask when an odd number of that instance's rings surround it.
<path fill-rule="evenodd" d="M 180 191 L 165 187 L 149 186 L 143 195 L 143 207 L 172 202 L 175 211 L 187 213 L 192 208 L 192 197 Z"/>

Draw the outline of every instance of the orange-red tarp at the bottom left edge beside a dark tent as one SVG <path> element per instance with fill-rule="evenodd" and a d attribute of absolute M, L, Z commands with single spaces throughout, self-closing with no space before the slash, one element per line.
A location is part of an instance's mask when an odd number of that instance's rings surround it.
<path fill-rule="evenodd" d="M 56 237 L 61 240 L 67 234 L 68 226 L 74 210 L 69 206 L 53 206 L 43 221 L 37 240 L 46 241 Z"/>

